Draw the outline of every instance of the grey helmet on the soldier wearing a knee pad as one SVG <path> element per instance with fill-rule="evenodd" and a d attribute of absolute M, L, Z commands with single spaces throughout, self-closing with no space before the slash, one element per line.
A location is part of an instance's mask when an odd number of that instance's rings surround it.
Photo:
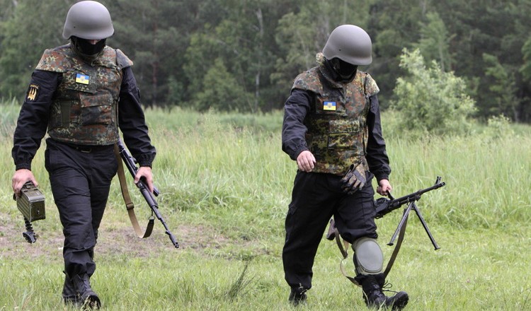
<path fill-rule="evenodd" d="M 372 42 L 362 28 L 341 25 L 330 34 L 323 54 L 326 59 L 338 58 L 348 64 L 365 66 L 372 63 Z"/>

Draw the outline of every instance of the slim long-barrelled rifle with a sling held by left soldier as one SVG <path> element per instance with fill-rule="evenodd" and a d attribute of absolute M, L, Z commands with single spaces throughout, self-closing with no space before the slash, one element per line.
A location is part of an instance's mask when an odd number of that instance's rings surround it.
<path fill-rule="evenodd" d="M 132 155 L 130 155 L 129 151 L 127 151 L 127 149 L 123 145 L 122 141 L 118 141 L 117 146 L 118 146 L 118 152 L 120 153 L 120 157 L 122 158 L 123 162 L 125 163 L 125 166 L 127 166 L 127 169 L 131 173 L 132 177 L 134 178 L 137 175 L 137 171 L 138 171 L 137 170 L 137 165 L 136 165 L 137 161 L 135 160 L 135 158 L 132 157 Z M 121 180 L 120 180 L 120 183 L 122 183 Z M 171 233 L 170 229 L 168 228 L 168 225 L 166 224 L 166 221 L 164 221 L 164 218 L 162 218 L 162 215 L 159 212 L 159 205 L 156 203 L 156 200 L 154 198 L 154 195 L 155 196 L 159 195 L 159 189 L 156 189 L 156 187 L 154 187 L 153 194 L 152 194 L 151 192 L 149 192 L 149 189 L 147 188 L 146 184 L 144 184 L 142 179 L 139 180 L 139 182 L 137 182 L 137 187 L 140 190 L 140 192 L 142 193 L 142 196 L 144 196 L 144 199 L 146 200 L 146 202 L 149 205 L 149 207 L 152 209 L 152 214 L 155 214 L 156 218 L 159 219 L 159 221 L 162 223 L 162 225 L 164 225 L 164 229 L 166 230 L 166 235 L 169 235 L 171 243 L 173 244 L 173 246 L 176 247 L 176 248 L 179 248 L 179 244 L 178 244 L 176 238 Z M 122 194 L 123 194 L 123 189 L 122 189 Z M 125 196 L 124 196 L 124 199 L 125 199 Z M 126 205 L 127 205 L 127 202 L 126 202 Z M 129 206 L 127 206 L 127 211 L 129 211 L 129 213 L 130 213 L 130 218 L 131 218 L 131 221 L 133 223 L 133 227 L 135 228 L 136 218 L 134 220 L 135 222 L 133 222 L 133 218 L 131 216 L 131 214 L 134 213 L 134 212 L 132 212 L 132 208 L 130 209 Z M 151 224 L 151 227 L 152 227 L 153 218 L 150 218 L 149 221 L 150 221 L 150 224 Z M 135 230 L 136 230 L 136 228 L 135 228 Z M 144 235 L 144 237 L 148 237 L 149 234 L 151 234 L 151 229 L 149 229 L 149 233 Z"/>

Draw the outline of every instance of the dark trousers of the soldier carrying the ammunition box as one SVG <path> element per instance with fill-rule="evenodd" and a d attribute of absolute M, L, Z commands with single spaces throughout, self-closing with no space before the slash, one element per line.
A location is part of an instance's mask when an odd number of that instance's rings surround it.
<path fill-rule="evenodd" d="M 113 145 L 73 146 L 47 139 L 45 166 L 63 226 L 64 273 L 91 276 L 98 228 L 118 170 Z"/>

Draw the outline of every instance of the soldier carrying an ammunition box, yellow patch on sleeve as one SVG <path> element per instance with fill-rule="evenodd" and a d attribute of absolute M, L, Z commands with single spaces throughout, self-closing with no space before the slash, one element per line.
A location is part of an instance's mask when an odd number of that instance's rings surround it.
<path fill-rule="evenodd" d="M 122 131 L 153 191 L 151 144 L 132 61 L 105 45 L 114 34 L 110 13 L 96 1 L 80 1 L 67 13 L 69 44 L 45 50 L 31 77 L 13 135 L 13 192 L 37 185 L 31 162 L 46 132 L 45 167 L 64 233 L 65 303 L 99 308 L 90 278 L 98 227 L 110 182 L 118 169 L 113 146 Z M 119 112 L 119 113 L 118 113 Z"/>

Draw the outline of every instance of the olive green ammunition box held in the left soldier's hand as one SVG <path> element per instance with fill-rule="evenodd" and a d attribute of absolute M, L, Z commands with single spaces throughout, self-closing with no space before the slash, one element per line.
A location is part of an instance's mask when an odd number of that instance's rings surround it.
<path fill-rule="evenodd" d="M 13 194 L 13 200 L 16 201 L 18 211 L 21 211 L 24 216 L 26 231 L 22 233 L 22 236 L 28 243 L 35 243 L 38 235 L 33 231 L 31 222 L 46 218 L 44 195 L 33 182 L 26 182 L 22 186 L 21 195 L 17 197 Z"/>

